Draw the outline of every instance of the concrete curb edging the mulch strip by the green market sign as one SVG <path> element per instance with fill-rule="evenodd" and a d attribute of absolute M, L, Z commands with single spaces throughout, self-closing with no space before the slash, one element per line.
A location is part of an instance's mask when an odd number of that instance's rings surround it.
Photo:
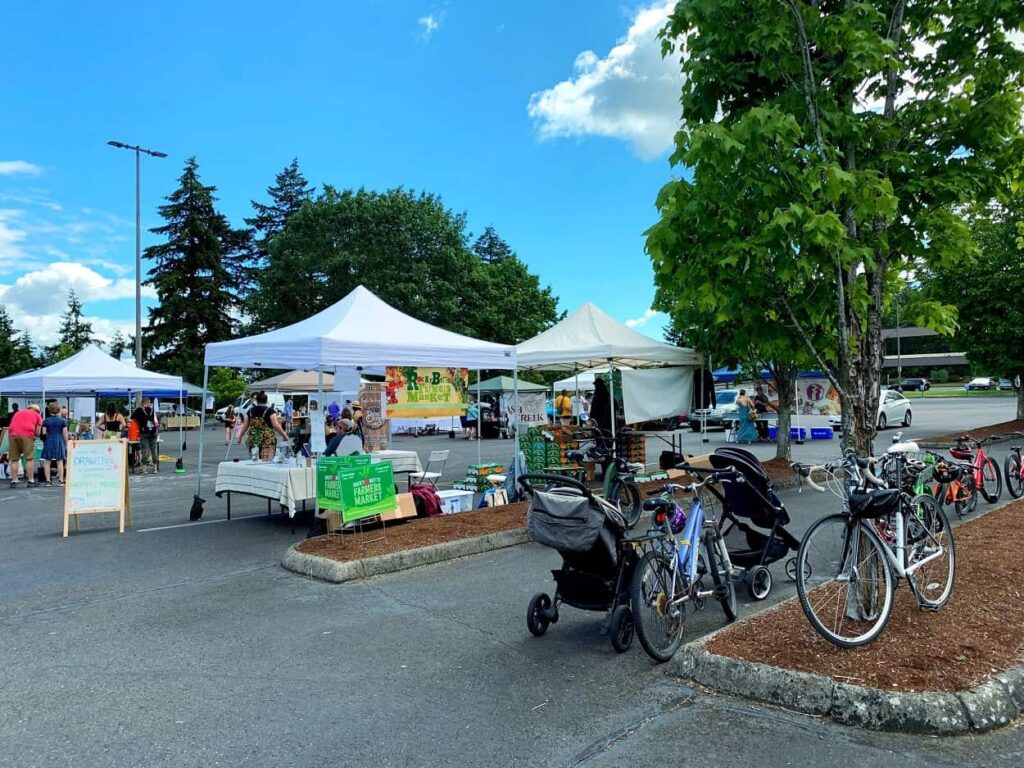
<path fill-rule="evenodd" d="M 369 579 L 370 577 L 382 575 L 384 573 L 394 573 L 409 568 L 418 568 L 421 565 L 431 565 L 445 560 L 454 560 L 458 557 L 468 557 L 478 555 L 483 552 L 492 552 L 496 549 L 515 547 L 525 544 L 529 539 L 526 537 L 525 528 L 514 528 L 512 530 L 500 530 L 495 534 L 473 537 L 472 539 L 460 539 L 455 542 L 443 542 L 442 544 L 432 544 L 428 547 L 418 547 L 417 549 L 404 550 L 402 552 L 392 552 L 387 555 L 367 557 L 361 560 L 348 560 L 339 562 L 329 557 L 318 555 L 307 555 L 296 550 L 298 545 L 293 544 L 285 552 L 281 559 L 281 564 L 295 573 L 300 573 L 310 579 L 318 579 L 332 584 L 343 584 L 358 579 Z"/>

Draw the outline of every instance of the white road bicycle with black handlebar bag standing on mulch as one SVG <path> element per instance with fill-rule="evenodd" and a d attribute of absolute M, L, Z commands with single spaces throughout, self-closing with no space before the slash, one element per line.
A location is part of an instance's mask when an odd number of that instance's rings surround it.
<path fill-rule="evenodd" d="M 952 594 L 956 550 L 949 520 L 935 499 L 887 488 L 871 460 L 794 465 L 816 490 L 815 470 L 843 511 L 814 522 L 797 553 L 797 594 L 811 626 L 842 648 L 865 645 L 892 613 L 895 579 L 905 579 L 919 607 L 938 610 Z M 870 489 L 868 486 L 872 486 Z"/>

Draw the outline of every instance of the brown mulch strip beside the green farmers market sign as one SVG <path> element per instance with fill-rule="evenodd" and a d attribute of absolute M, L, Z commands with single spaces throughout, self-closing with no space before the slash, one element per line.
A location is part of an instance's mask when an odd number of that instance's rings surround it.
<path fill-rule="evenodd" d="M 455 515 L 388 523 L 385 528 L 387 539 L 376 542 L 364 543 L 364 540 L 380 537 L 379 527 L 367 528 L 362 534 L 319 536 L 300 542 L 295 549 L 306 555 L 318 555 L 339 562 L 361 560 L 365 557 L 387 555 L 431 544 L 472 539 L 499 530 L 524 528 L 527 506 L 525 502 L 520 502 Z"/>

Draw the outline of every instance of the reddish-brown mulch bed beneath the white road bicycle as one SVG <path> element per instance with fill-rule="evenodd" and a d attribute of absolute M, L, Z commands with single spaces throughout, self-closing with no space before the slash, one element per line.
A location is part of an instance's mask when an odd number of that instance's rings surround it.
<path fill-rule="evenodd" d="M 938 612 L 916 608 L 898 582 L 882 635 L 844 650 L 811 628 L 794 598 L 708 643 L 723 656 L 827 675 L 882 690 L 958 691 L 1020 664 L 1024 649 L 1024 558 L 1016 537 L 1024 501 L 955 528 L 956 582 Z"/>

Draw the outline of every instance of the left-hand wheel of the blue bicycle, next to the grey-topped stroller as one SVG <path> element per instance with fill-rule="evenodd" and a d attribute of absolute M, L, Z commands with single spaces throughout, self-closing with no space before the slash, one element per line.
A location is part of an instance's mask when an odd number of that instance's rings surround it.
<path fill-rule="evenodd" d="M 686 604 L 675 603 L 683 597 L 683 584 L 678 568 L 672 567 L 672 557 L 645 552 L 630 583 L 637 637 L 647 655 L 659 663 L 675 655 L 686 626 Z"/>

